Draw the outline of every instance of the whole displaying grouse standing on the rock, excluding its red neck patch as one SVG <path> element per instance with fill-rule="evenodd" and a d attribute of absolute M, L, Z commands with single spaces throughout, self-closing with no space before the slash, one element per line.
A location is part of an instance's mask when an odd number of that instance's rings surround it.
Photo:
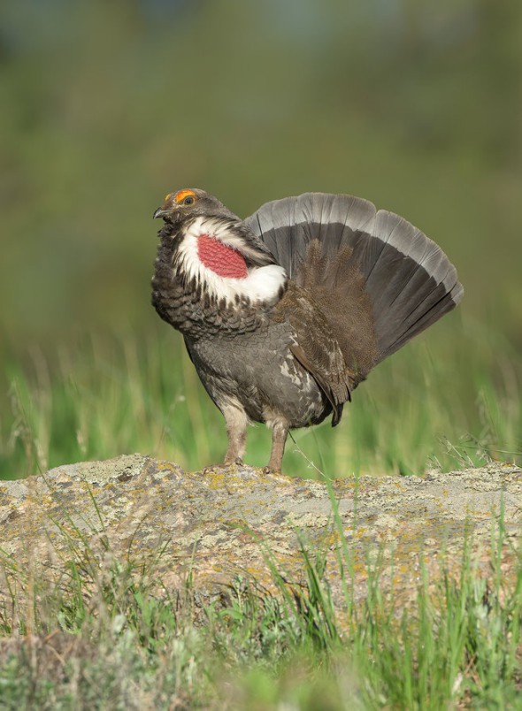
<path fill-rule="evenodd" d="M 185 195 L 195 198 L 188 210 L 178 204 Z M 168 195 L 155 216 L 165 226 L 153 304 L 183 333 L 225 416 L 226 463 L 242 460 L 254 420 L 272 427 L 269 468 L 280 470 L 289 428 L 331 413 L 337 424 L 372 367 L 463 295 L 441 248 L 403 218 L 349 195 L 284 198 L 242 221 L 211 195 L 185 190 Z M 197 245 L 212 230 L 259 278 L 260 295 L 250 295 L 248 279 L 214 278 L 189 252 L 191 240 Z M 263 286 L 264 273 L 273 289 Z"/>

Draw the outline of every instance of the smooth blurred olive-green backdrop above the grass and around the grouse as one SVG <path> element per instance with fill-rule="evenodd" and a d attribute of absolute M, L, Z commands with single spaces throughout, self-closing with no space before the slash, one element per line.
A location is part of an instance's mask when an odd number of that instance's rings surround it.
<path fill-rule="evenodd" d="M 487 348 L 495 380 L 498 344 L 517 392 L 521 37 L 508 0 L 4 2 L 4 432 L 13 363 L 52 372 L 89 334 L 160 347 L 151 216 L 187 186 L 239 215 L 306 190 L 402 214 L 466 290 L 426 348 L 463 374 Z"/>

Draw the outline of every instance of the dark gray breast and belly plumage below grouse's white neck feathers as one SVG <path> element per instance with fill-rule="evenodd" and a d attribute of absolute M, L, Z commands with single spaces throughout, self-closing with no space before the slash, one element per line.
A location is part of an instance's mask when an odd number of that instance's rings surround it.
<path fill-rule="evenodd" d="M 332 408 L 290 351 L 296 333 L 287 312 L 293 310 L 296 317 L 303 310 L 295 303 L 300 287 L 289 282 L 273 305 L 248 300 L 226 305 L 186 284 L 173 271 L 174 258 L 175 241 L 168 239 L 157 260 L 153 303 L 183 333 L 203 386 L 219 409 L 236 402 L 255 422 L 265 422 L 271 408 L 284 412 L 290 427 L 322 422 Z"/>

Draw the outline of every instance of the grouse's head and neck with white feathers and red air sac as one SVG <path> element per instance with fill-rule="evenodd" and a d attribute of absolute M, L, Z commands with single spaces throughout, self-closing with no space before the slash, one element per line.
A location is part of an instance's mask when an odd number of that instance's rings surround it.
<path fill-rule="evenodd" d="M 153 218 L 163 218 L 158 260 L 188 290 L 212 301 L 275 302 L 286 271 L 263 241 L 223 203 L 198 188 L 165 196 Z"/>

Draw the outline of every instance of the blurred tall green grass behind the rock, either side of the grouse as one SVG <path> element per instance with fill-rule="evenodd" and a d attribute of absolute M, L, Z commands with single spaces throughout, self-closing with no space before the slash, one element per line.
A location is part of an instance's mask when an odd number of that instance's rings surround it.
<path fill-rule="evenodd" d="M 520 461 L 519 355 L 476 324 L 435 329 L 372 371 L 338 427 L 295 431 L 285 471 L 315 476 L 306 458 L 329 477 Z M 222 460 L 223 419 L 176 333 L 93 336 L 7 363 L 2 478 L 136 451 L 192 470 Z M 269 450 L 265 427 L 249 428 L 247 461 L 264 465 Z"/>

